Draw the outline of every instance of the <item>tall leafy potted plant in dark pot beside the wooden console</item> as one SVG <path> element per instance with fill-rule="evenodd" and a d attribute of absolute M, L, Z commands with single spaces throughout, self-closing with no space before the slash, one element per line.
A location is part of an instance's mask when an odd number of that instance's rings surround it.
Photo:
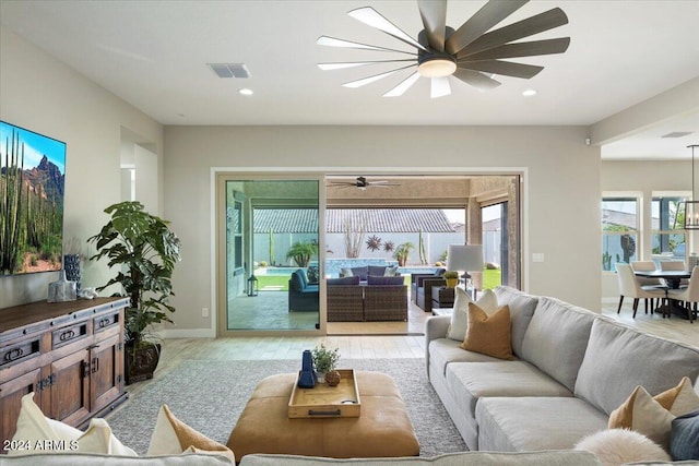
<path fill-rule="evenodd" d="M 180 240 L 170 231 L 169 222 L 144 212 L 140 202 L 110 205 L 105 213 L 109 222 L 87 241 L 97 253 L 91 259 L 108 258 L 118 273 L 98 291 L 121 285 L 130 298 L 126 311 L 125 371 L 127 384 L 153 378 L 159 360 L 161 345 L 153 340 L 151 325 L 173 322 L 168 303 L 173 292 L 173 271 L 180 260 Z"/>

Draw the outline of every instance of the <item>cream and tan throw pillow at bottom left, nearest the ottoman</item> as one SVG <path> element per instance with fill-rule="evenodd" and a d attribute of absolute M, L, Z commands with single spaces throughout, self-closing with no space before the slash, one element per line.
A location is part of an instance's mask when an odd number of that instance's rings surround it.
<path fill-rule="evenodd" d="M 190 450 L 192 447 L 197 452 L 208 451 L 223 454 L 235 463 L 235 456 L 230 449 L 177 419 L 167 405 L 161 406 L 155 429 L 151 435 L 147 455 L 179 454 L 187 450 L 192 451 Z"/>

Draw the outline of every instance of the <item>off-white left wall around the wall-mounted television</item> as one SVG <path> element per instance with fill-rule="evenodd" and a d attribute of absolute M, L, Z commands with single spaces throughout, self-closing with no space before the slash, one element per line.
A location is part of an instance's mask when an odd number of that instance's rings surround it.
<path fill-rule="evenodd" d="M 98 232 L 107 222 L 104 208 L 120 201 L 125 129 L 158 147 L 162 159 L 161 124 L 4 28 L 0 118 L 67 143 L 67 239 L 84 242 Z M 152 181 L 159 184 L 158 179 Z M 105 264 L 83 261 L 83 287 L 102 285 L 109 275 Z M 58 273 L 0 277 L 0 309 L 46 299 L 48 283 L 56 279 Z"/>

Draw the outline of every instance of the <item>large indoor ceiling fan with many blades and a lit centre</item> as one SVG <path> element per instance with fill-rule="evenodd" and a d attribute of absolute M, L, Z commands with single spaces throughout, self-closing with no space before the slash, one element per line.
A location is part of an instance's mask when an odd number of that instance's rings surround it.
<path fill-rule="evenodd" d="M 447 0 L 417 0 L 424 29 L 417 40 L 401 31 L 371 7 L 350 11 L 347 14 L 410 46 L 416 51 L 404 51 L 372 46 L 334 37 L 321 36 L 317 44 L 330 47 L 354 48 L 412 56 L 405 59 L 375 61 L 318 63 L 321 70 L 340 70 L 377 63 L 400 63 L 399 68 L 343 84 L 360 87 L 388 77 L 393 73 L 417 67 L 417 70 L 383 94 L 384 97 L 403 95 L 420 77 L 431 80 L 431 97 L 451 94 L 449 76 L 454 76 L 481 91 L 500 85 L 495 74 L 531 79 L 544 67 L 505 61 L 505 58 L 562 53 L 570 45 L 570 37 L 516 41 L 553 29 L 568 23 L 568 16 L 559 8 L 545 11 L 525 20 L 490 31 L 529 0 L 489 0 L 458 29 L 447 26 Z"/>

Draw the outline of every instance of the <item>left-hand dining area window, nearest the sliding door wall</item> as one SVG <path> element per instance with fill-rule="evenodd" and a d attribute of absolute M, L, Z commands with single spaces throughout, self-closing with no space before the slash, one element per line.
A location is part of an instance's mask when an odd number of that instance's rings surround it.
<path fill-rule="evenodd" d="M 637 198 L 602 199 L 602 270 L 638 256 L 639 202 Z"/>

